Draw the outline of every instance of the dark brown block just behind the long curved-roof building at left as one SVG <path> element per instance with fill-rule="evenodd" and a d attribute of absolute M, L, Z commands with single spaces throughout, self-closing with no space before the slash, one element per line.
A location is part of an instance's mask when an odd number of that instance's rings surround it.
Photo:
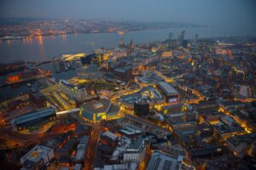
<path fill-rule="evenodd" d="M 47 106 L 46 98 L 44 94 L 40 93 L 38 90 L 31 88 L 28 91 L 29 99 L 33 105 L 38 108 L 43 108 Z"/>

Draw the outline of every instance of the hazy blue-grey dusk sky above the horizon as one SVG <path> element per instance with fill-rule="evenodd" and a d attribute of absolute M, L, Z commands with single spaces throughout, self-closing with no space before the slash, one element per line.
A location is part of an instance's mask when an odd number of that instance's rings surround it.
<path fill-rule="evenodd" d="M 256 27 L 256 0 L 0 0 L 0 17 L 180 21 Z"/>

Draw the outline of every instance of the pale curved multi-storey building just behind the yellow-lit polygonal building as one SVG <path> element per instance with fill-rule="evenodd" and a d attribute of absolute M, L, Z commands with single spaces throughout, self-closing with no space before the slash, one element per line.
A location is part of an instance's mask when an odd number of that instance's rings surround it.
<path fill-rule="evenodd" d="M 74 99 L 79 103 L 88 101 L 91 99 L 96 99 L 98 97 L 94 89 L 90 88 L 90 85 L 88 84 L 84 84 L 82 86 L 76 86 L 65 80 L 61 80 L 59 82 L 59 86 L 61 88 L 61 91 L 64 94 L 66 94 L 70 99 Z"/>

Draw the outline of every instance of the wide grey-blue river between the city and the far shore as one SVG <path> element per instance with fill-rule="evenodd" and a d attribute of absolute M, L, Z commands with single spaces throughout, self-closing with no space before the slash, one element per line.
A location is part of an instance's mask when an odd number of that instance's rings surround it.
<path fill-rule="evenodd" d="M 241 26 L 242 27 L 242 26 Z M 245 30 L 241 34 L 241 29 Z M 44 61 L 60 54 L 74 54 L 85 52 L 90 54 L 95 48 L 115 48 L 120 38 L 125 43 L 133 39 L 135 43 L 164 41 L 172 32 L 172 38 L 176 39 L 177 34 L 185 30 L 185 38 L 194 38 L 195 34 L 201 37 L 230 37 L 230 36 L 256 36 L 253 28 L 227 29 L 221 27 L 191 27 L 172 28 L 166 30 L 147 30 L 125 32 L 123 36 L 117 33 L 96 33 L 96 34 L 69 34 L 66 36 L 37 37 L 26 40 L 9 40 L 0 42 L 1 62 L 11 62 L 23 59 L 26 61 Z"/>

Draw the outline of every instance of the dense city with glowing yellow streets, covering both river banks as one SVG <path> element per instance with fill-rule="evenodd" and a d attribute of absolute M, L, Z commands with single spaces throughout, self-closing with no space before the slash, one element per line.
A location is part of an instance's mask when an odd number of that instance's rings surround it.
<path fill-rule="evenodd" d="M 0 19 L 0 46 L 13 50 L 33 39 L 44 47 L 43 37 L 119 36 L 114 48 L 38 61 L 0 52 L 0 169 L 256 169 L 256 37 L 188 37 L 209 26 L 188 23 Z M 163 41 L 125 37 L 170 28 L 178 34 Z"/>

